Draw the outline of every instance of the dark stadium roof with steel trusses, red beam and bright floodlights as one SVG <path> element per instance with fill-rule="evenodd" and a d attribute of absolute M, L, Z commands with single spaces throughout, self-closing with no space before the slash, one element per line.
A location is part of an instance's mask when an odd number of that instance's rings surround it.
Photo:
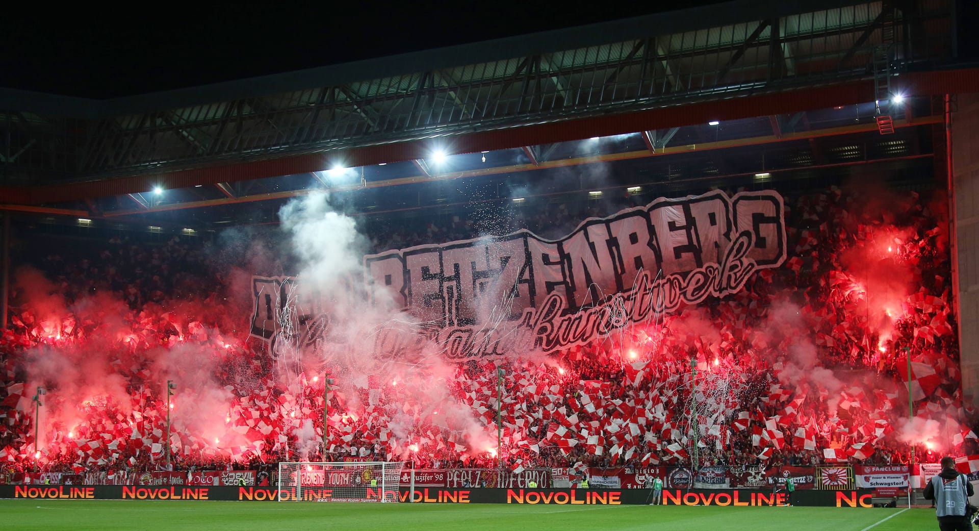
<path fill-rule="evenodd" d="M 928 95 L 979 88 L 936 72 L 951 7 L 740 0 L 108 100 L 0 90 L 2 208 L 132 216 L 691 153 L 736 174 L 715 150 L 773 143 L 817 166 L 812 139 L 875 132 L 875 100 L 916 129 L 940 120 Z M 889 110 L 899 92 L 925 97 Z"/>

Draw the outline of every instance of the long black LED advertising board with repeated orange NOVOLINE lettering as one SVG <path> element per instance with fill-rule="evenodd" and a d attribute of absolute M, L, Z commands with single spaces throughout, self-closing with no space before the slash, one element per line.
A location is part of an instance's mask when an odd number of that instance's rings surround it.
<path fill-rule="evenodd" d="M 29 500 L 215 500 L 240 502 L 413 502 L 421 504 L 648 505 L 650 489 L 439 489 L 365 490 L 361 499 L 336 498 L 326 487 L 203 487 L 187 485 L 0 485 L 0 498 Z M 409 499 L 410 495 L 410 499 Z M 791 498 L 790 498 L 791 497 Z M 813 490 L 787 493 L 753 489 L 664 489 L 665 506 L 873 507 L 869 490 Z"/>

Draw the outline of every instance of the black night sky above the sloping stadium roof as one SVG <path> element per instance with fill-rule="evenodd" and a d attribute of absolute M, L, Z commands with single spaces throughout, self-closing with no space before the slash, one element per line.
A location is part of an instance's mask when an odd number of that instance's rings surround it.
<path fill-rule="evenodd" d="M 0 86 L 111 98 L 711 3 L 436 0 L 287 9 L 199 2 L 132 4 L 125 11 L 38 4 L 44 11 L 0 19 Z"/>

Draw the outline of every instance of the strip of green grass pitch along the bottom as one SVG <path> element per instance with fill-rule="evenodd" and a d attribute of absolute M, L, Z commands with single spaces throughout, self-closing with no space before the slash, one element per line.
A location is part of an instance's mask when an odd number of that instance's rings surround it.
<path fill-rule="evenodd" d="M 873 531 L 938 528 L 927 508 L 0 500 L 9 531 L 862 531 L 878 522 Z"/>

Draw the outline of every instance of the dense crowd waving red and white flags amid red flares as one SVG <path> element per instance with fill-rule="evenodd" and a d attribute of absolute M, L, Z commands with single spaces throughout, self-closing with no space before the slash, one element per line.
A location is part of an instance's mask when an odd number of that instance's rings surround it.
<path fill-rule="evenodd" d="M 640 202 L 507 206 L 516 210 L 393 223 L 368 236 L 375 251 L 519 228 L 559 237 L 585 217 Z M 973 453 L 976 417 L 959 389 L 940 204 L 835 188 L 786 198 L 789 260 L 737 294 L 546 359 L 414 367 L 394 378 L 328 367 L 342 380 L 329 394 L 312 372 L 284 378 L 283 361 L 249 337 L 249 271 L 229 265 L 240 255 L 220 239 L 154 245 L 113 236 L 24 253 L 20 262 L 32 268 L 17 272 L 0 336 L 0 464 L 160 469 L 171 375 L 197 382 L 173 399 L 178 469 L 350 458 L 421 468 L 748 466 Z M 293 272 L 288 263 L 260 272 Z M 910 376 L 902 372 L 909 357 Z M 85 361 L 99 368 L 58 366 Z M 206 378 L 195 380 L 202 367 Z M 39 442 L 37 385 L 48 390 Z M 432 386 L 443 393 L 418 392 Z M 188 419 L 183 400 L 200 414 Z M 214 411 L 218 422 L 205 416 Z"/>

